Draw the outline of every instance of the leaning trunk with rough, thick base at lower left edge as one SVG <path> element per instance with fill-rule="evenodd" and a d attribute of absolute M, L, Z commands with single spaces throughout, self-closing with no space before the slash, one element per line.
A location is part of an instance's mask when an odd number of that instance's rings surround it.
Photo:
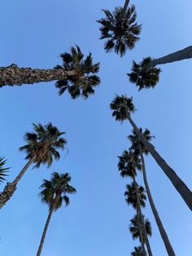
<path fill-rule="evenodd" d="M 20 171 L 20 174 L 17 175 L 15 180 L 12 183 L 7 183 L 3 191 L 0 193 L 0 209 L 4 205 L 6 205 L 7 201 L 10 200 L 11 196 L 13 196 L 15 190 L 16 190 L 16 185 L 20 181 L 20 179 L 23 177 L 24 173 L 26 170 L 28 170 L 28 167 L 31 166 L 33 161 L 35 160 L 36 156 L 32 157 L 27 164 L 24 166 L 24 168 Z"/>

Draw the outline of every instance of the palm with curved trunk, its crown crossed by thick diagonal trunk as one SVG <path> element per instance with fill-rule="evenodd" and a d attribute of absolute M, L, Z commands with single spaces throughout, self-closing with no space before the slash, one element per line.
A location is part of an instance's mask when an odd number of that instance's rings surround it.
<path fill-rule="evenodd" d="M 139 131 L 142 133 L 142 135 L 146 138 L 146 140 L 148 142 L 150 142 L 151 139 L 154 138 L 154 136 L 151 135 L 151 132 L 148 129 L 146 129 L 144 132 L 142 132 L 142 128 L 140 128 Z M 158 211 L 156 210 L 155 203 L 153 201 L 153 197 L 151 196 L 151 190 L 150 190 L 150 187 L 149 187 L 149 184 L 148 184 L 148 181 L 147 181 L 146 165 L 145 165 L 143 153 L 147 155 L 148 150 L 147 150 L 147 148 L 145 148 L 144 144 L 138 138 L 138 136 L 137 136 L 137 134 L 135 133 L 134 130 L 133 130 L 133 135 L 129 135 L 128 138 L 129 138 L 130 142 L 132 143 L 132 145 L 129 149 L 133 150 L 134 153 L 137 156 L 141 157 L 141 160 L 142 160 L 142 174 L 143 174 L 143 180 L 144 180 L 145 187 L 146 187 L 146 193 L 147 193 L 147 196 L 149 198 L 150 205 L 151 205 L 151 210 L 154 214 L 155 221 L 156 221 L 157 226 L 159 228 L 160 235 L 161 235 L 161 237 L 164 241 L 165 248 L 167 249 L 167 252 L 168 252 L 169 256 L 175 256 L 176 254 L 174 253 L 174 250 L 172 249 L 172 245 L 171 245 L 171 243 L 168 239 L 167 232 L 165 231 L 164 225 L 163 225 L 163 223 L 162 223 L 162 221 L 159 217 Z"/>

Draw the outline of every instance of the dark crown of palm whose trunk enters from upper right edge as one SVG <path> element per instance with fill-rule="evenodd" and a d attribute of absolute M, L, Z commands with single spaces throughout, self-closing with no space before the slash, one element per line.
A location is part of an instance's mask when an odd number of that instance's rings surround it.
<path fill-rule="evenodd" d="M 128 76 L 129 81 L 133 82 L 138 90 L 154 88 L 159 82 L 160 68 L 148 68 L 151 61 L 151 57 L 143 59 L 140 64 L 133 61 L 132 72 L 128 73 Z"/>

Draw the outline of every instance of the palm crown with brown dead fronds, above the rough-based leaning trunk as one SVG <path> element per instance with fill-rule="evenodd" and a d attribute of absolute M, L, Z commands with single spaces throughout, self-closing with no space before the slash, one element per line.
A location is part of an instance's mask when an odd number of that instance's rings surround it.
<path fill-rule="evenodd" d="M 60 132 L 56 126 L 48 123 L 46 126 L 33 124 L 34 132 L 27 132 L 24 136 L 26 145 L 20 147 L 21 151 L 27 153 L 26 159 L 36 156 L 34 167 L 39 167 L 41 163 L 51 166 L 53 157 L 59 160 L 60 154 L 57 149 L 64 149 L 67 140 L 61 137 L 65 132 Z"/>

